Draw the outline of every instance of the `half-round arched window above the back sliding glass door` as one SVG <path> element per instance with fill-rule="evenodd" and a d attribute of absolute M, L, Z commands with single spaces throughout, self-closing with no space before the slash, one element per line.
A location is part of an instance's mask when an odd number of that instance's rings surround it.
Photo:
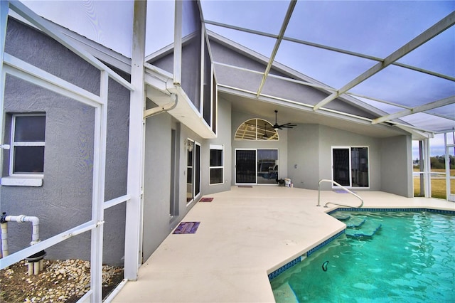
<path fill-rule="evenodd" d="M 278 132 L 270 122 L 263 119 L 250 119 L 243 122 L 235 132 L 235 140 L 278 140 Z"/>

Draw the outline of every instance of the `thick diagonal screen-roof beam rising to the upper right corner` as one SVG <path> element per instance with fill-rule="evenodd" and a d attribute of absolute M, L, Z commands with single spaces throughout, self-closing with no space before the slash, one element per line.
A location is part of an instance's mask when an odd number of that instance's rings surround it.
<path fill-rule="evenodd" d="M 455 11 L 452 12 L 451 14 L 449 14 L 448 16 L 446 16 L 445 18 L 442 18 L 441 21 L 434 24 L 434 26 L 428 28 L 427 31 L 424 31 L 419 36 L 412 39 L 410 42 L 406 43 L 401 48 L 398 48 L 397 50 L 395 50 L 395 52 L 393 52 L 392 54 L 387 56 L 387 58 L 382 60 L 382 62 L 376 64 L 375 66 L 373 66 L 373 68 L 366 70 L 365 73 L 359 75 L 357 78 L 350 81 L 350 83 L 341 87 L 341 89 L 338 90 L 337 92 L 333 92 L 331 95 L 326 97 L 324 100 L 322 100 L 321 102 L 316 104 L 314 106 L 314 110 L 315 111 L 318 110 L 320 107 L 323 107 L 328 102 L 335 100 L 341 94 L 347 92 L 351 88 L 362 83 L 363 81 L 367 80 L 368 78 L 375 75 L 376 73 L 379 73 L 381 70 L 383 70 L 384 68 L 387 68 L 387 66 L 394 63 L 396 60 L 399 60 L 403 56 L 410 53 L 412 50 L 418 48 L 419 46 L 422 46 L 422 44 L 426 43 L 430 39 L 439 35 L 439 33 L 442 33 L 447 28 L 453 26 L 454 23 L 455 23 Z"/>

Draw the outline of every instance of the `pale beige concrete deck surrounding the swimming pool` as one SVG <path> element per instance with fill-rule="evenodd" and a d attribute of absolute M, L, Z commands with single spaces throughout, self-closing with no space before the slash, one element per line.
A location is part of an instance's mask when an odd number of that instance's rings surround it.
<path fill-rule="evenodd" d="M 356 191 L 364 208 L 437 208 L 455 203 Z M 196 202 L 182 221 L 198 221 L 194 234 L 171 234 L 112 302 L 274 302 L 267 274 L 345 228 L 326 215 L 328 202 L 358 205 L 348 193 L 254 186 L 214 193 Z"/>

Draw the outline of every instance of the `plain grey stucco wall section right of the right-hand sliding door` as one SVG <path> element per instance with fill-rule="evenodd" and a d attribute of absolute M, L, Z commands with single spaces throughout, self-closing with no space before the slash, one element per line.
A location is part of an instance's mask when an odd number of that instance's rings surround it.
<path fill-rule="evenodd" d="M 411 198 L 412 141 L 410 136 L 381 140 L 381 190 Z"/>

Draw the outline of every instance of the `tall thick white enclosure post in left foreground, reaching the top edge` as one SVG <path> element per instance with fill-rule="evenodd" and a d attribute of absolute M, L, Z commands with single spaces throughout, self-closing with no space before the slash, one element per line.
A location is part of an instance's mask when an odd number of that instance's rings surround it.
<path fill-rule="evenodd" d="M 134 87 L 129 106 L 129 147 L 127 218 L 125 228 L 124 277 L 137 280 L 142 255 L 142 211 L 144 192 L 144 58 L 146 1 L 134 1 L 131 82 Z"/>

